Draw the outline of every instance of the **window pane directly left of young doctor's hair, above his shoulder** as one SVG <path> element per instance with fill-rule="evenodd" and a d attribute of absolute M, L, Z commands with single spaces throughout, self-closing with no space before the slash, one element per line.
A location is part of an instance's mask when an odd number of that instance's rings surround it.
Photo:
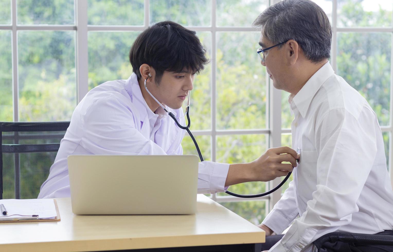
<path fill-rule="evenodd" d="M 89 90 L 132 74 L 129 51 L 139 31 L 88 32 Z"/>

